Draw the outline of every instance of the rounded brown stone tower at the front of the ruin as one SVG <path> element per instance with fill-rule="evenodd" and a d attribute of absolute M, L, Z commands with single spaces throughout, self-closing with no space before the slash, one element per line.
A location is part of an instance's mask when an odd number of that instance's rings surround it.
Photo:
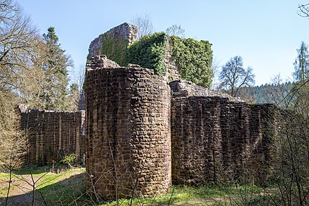
<path fill-rule="evenodd" d="M 86 72 L 86 186 L 105 199 L 155 195 L 171 186 L 171 90 L 141 67 Z M 133 65 L 132 65 L 133 66 Z"/>

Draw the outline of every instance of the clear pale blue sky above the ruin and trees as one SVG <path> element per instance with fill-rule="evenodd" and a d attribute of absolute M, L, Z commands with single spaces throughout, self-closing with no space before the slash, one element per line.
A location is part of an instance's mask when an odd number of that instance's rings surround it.
<path fill-rule="evenodd" d="M 309 20 L 298 14 L 301 0 L 104 1 L 18 0 L 41 34 L 55 27 L 62 48 L 75 67 L 85 65 L 88 46 L 99 34 L 134 15 L 147 13 L 156 31 L 181 25 L 185 37 L 209 40 L 213 56 L 224 65 L 242 56 L 256 74 L 256 85 L 281 75 L 291 78 L 296 49 L 309 44 Z"/>

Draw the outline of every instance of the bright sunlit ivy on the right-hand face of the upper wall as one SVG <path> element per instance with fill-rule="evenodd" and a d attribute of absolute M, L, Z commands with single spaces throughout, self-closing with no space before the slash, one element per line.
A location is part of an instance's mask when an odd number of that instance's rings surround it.
<path fill-rule="evenodd" d="M 209 41 L 169 38 L 172 60 L 175 61 L 182 79 L 209 88 L 213 79 L 212 50 Z"/>

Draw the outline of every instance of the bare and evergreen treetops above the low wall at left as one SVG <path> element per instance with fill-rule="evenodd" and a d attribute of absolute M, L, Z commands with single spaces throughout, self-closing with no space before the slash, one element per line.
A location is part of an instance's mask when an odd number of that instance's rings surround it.
<path fill-rule="evenodd" d="M 15 1 L 0 2 L 0 90 L 31 108 L 72 110 L 67 103 L 70 56 L 55 28 L 40 35 Z"/>

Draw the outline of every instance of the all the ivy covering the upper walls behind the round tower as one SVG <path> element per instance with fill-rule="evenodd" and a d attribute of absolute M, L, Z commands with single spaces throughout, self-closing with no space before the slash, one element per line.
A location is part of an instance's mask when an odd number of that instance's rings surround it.
<path fill-rule="evenodd" d="M 211 68 L 213 53 L 209 41 L 183 39 L 164 32 L 145 36 L 128 46 L 125 39 L 103 34 L 103 54 L 121 66 L 128 63 L 153 69 L 156 75 L 166 74 L 164 56 L 171 53 L 181 79 L 210 87 L 213 79 Z"/>

